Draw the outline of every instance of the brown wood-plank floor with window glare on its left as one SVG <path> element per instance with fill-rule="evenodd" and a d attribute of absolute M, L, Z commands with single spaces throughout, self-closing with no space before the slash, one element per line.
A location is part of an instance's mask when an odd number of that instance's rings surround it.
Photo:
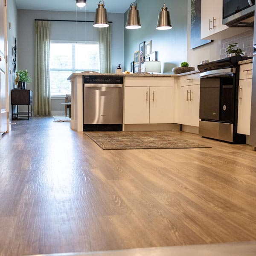
<path fill-rule="evenodd" d="M 19 120 L 0 142 L 0 256 L 256 240 L 256 152 L 103 151 L 69 123 Z"/>

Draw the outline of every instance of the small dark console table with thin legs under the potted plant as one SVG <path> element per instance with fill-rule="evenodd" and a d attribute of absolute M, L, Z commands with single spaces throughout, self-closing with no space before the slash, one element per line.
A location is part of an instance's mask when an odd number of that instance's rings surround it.
<path fill-rule="evenodd" d="M 12 104 L 12 119 L 29 119 L 32 116 L 33 92 L 32 90 L 12 90 L 11 104 Z M 18 106 L 28 106 L 28 111 L 19 112 Z M 13 107 L 17 106 L 17 112 L 13 112 Z M 30 110 L 29 110 L 30 106 Z"/>

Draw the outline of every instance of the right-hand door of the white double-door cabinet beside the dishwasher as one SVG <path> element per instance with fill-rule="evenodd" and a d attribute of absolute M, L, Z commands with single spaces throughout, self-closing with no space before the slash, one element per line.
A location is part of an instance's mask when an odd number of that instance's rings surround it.
<path fill-rule="evenodd" d="M 174 88 L 150 87 L 151 124 L 170 124 L 174 119 Z"/>

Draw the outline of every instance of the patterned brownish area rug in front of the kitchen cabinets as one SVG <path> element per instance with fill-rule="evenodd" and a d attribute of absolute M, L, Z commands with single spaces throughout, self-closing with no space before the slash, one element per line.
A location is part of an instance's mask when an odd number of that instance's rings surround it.
<path fill-rule="evenodd" d="M 85 133 L 102 149 L 210 148 L 170 134 L 152 131 L 90 131 Z"/>

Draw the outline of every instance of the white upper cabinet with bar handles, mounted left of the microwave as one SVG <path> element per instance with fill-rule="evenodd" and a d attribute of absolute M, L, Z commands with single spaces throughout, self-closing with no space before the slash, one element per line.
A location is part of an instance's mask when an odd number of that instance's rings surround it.
<path fill-rule="evenodd" d="M 202 0 L 201 39 L 220 40 L 250 28 L 228 27 L 222 24 L 222 0 Z"/>

